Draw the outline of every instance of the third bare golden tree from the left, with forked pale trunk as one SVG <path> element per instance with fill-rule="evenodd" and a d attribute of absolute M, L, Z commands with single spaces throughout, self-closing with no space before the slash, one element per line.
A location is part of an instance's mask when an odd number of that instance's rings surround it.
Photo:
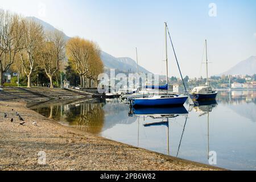
<path fill-rule="evenodd" d="M 49 77 L 51 88 L 53 88 L 52 77 L 59 70 L 60 61 L 65 57 L 64 34 L 60 31 L 47 32 L 42 51 L 42 68 Z"/>

